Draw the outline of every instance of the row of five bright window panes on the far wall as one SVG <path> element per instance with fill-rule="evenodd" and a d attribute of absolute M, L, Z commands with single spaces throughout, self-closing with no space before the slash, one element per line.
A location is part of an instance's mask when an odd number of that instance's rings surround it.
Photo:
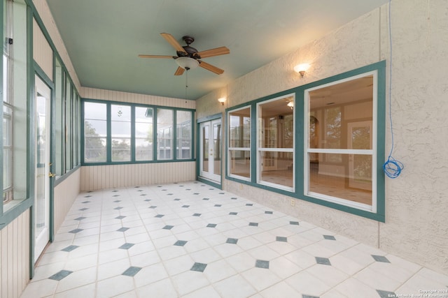
<path fill-rule="evenodd" d="M 83 121 L 84 165 L 193 158 L 192 110 L 84 100 Z"/>

